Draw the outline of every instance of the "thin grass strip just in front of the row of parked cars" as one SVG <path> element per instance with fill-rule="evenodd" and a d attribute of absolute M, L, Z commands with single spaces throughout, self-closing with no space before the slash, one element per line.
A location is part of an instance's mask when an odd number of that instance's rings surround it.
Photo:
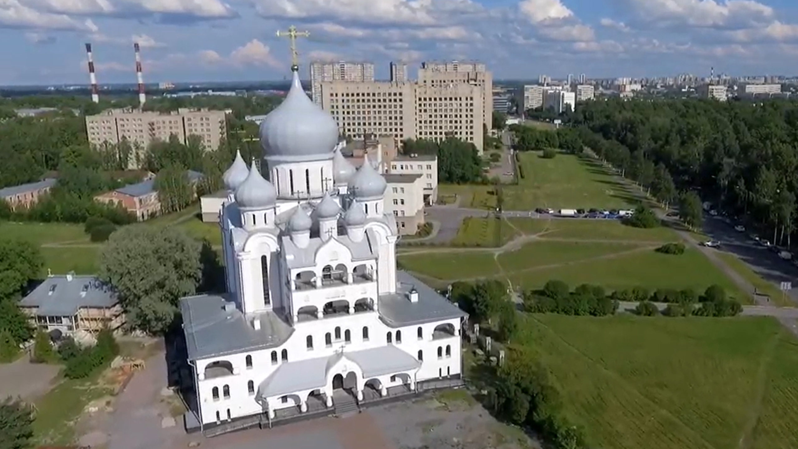
<path fill-rule="evenodd" d="M 626 226 L 620 220 L 587 219 L 509 219 L 524 234 L 540 238 L 618 240 L 636 242 L 678 242 L 679 236 L 669 227 L 653 229 Z"/>

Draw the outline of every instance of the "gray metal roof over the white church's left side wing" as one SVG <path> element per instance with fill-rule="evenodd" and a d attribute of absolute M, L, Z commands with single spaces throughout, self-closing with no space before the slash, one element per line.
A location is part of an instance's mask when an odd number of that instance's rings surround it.
<path fill-rule="evenodd" d="M 255 330 L 239 309 L 225 310 L 226 303 L 224 297 L 209 294 L 180 299 L 189 360 L 275 348 L 294 333 L 279 310 L 251 317 L 260 320 L 260 329 Z"/>

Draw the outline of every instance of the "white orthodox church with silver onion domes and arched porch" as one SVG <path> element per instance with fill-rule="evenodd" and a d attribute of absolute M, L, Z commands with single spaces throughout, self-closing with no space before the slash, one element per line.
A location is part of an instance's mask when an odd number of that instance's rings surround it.
<path fill-rule="evenodd" d="M 344 159 L 296 66 L 260 142 L 260 170 L 239 154 L 224 173 L 228 293 L 180 303 L 199 425 L 335 412 L 459 378 L 465 313 L 397 271 L 385 179 Z"/>

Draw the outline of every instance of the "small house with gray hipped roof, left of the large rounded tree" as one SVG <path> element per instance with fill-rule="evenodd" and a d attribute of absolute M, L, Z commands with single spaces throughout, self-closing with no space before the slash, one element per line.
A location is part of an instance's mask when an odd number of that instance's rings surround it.
<path fill-rule="evenodd" d="M 31 324 L 45 332 L 118 329 L 124 313 L 114 289 L 94 276 L 48 276 L 19 301 Z"/>

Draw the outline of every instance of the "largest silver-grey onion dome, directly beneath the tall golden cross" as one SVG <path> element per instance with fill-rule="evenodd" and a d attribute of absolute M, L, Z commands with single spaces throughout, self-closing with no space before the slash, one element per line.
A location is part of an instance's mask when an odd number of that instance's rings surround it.
<path fill-rule="evenodd" d="M 338 124 L 307 97 L 296 70 L 286 99 L 260 124 L 260 144 L 267 160 L 302 162 L 333 157 Z"/>

